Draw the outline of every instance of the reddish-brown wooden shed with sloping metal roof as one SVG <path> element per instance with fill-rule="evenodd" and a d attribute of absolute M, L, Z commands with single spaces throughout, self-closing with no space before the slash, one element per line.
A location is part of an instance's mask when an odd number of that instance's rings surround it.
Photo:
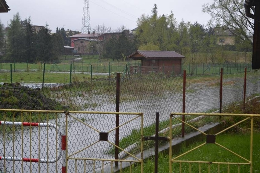
<path fill-rule="evenodd" d="M 182 73 L 182 59 L 184 56 L 175 51 L 135 51 L 127 56 L 133 60 L 141 60 L 140 66 L 131 66 L 131 73 L 163 72 L 167 75 Z"/>

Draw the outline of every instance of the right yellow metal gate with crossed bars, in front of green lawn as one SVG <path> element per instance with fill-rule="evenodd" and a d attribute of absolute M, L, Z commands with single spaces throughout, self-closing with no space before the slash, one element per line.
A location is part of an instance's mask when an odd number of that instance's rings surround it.
<path fill-rule="evenodd" d="M 177 115 L 177 116 L 176 116 Z M 216 134 L 206 134 L 205 132 L 199 130 L 198 128 L 192 126 L 190 123 L 184 122 L 182 121 L 180 118 L 178 118 L 178 115 L 185 115 L 185 116 L 217 116 L 219 118 L 223 117 L 223 116 L 229 116 L 229 117 L 240 117 L 240 121 L 229 126 L 228 128 L 216 133 Z M 248 171 L 250 171 L 251 173 L 253 172 L 252 169 L 252 157 L 253 157 L 253 123 L 254 123 L 254 118 L 259 118 L 260 115 L 250 115 L 250 114 L 203 114 L 203 113 L 171 113 L 171 118 L 170 118 L 170 127 L 172 127 L 172 120 L 175 118 L 177 120 L 179 120 L 180 122 L 184 123 L 187 126 L 190 126 L 192 129 L 202 133 L 203 135 L 205 135 L 205 139 L 206 141 L 203 142 L 202 144 L 198 145 L 197 147 L 192 148 L 191 150 L 180 154 L 179 156 L 176 156 L 174 158 L 172 158 L 172 141 L 170 141 L 170 154 L 169 154 L 169 165 L 170 165 L 170 170 L 169 172 L 223 172 L 223 170 L 221 170 L 221 167 L 223 167 L 223 165 L 226 165 L 225 167 L 225 172 L 230 172 L 230 167 L 231 165 L 237 166 L 237 171 L 236 172 L 240 172 L 240 167 L 242 165 L 248 165 Z M 250 148 L 249 148 L 249 158 L 245 158 L 244 156 L 241 156 L 240 154 L 237 154 L 237 152 L 233 151 L 233 149 L 227 148 L 223 145 L 221 145 L 219 143 L 219 141 L 216 139 L 216 136 L 222 134 L 223 132 L 226 132 L 227 130 L 233 128 L 236 125 L 239 125 L 242 122 L 246 122 L 247 120 L 250 121 Z M 170 128 L 170 133 L 169 136 L 172 136 L 172 128 Z M 241 139 L 243 140 L 243 139 Z M 207 145 L 207 144 L 215 144 L 216 146 L 232 153 L 235 157 L 239 157 L 240 160 L 242 160 L 243 162 L 219 162 L 219 161 L 212 161 L 210 158 L 208 159 L 208 161 L 201 161 L 200 158 L 197 158 L 197 160 L 185 160 L 182 159 L 182 157 L 184 157 L 185 155 L 189 154 L 190 152 L 200 149 L 201 147 Z M 216 154 L 216 153 L 212 153 L 212 154 Z M 220 154 L 221 155 L 221 154 Z M 175 164 L 175 168 L 177 167 L 177 169 L 173 169 L 173 164 L 177 163 L 179 165 L 176 166 Z M 183 171 L 183 165 L 186 164 L 186 171 Z M 194 168 L 198 166 L 198 168 Z M 213 166 L 213 165 L 217 165 L 217 166 Z M 205 166 L 207 167 L 207 170 L 204 169 L 202 170 L 202 167 L 205 168 Z M 215 168 L 215 169 L 214 169 Z"/>

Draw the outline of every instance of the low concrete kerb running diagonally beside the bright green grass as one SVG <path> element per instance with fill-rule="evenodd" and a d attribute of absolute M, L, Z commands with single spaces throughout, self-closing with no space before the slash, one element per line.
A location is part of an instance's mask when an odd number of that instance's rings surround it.
<path fill-rule="evenodd" d="M 199 130 L 201 130 L 202 132 L 205 132 L 207 134 L 215 134 L 217 132 L 220 132 L 222 129 L 224 129 L 224 126 L 222 123 L 219 122 L 212 122 L 209 124 L 206 124 L 202 127 L 198 128 Z M 181 147 L 185 144 L 186 147 L 189 146 L 191 143 L 194 143 L 195 141 L 198 140 L 203 140 L 205 139 L 205 135 L 203 135 L 202 133 L 196 131 L 196 132 L 191 132 L 185 135 L 185 137 L 178 137 L 175 139 L 172 139 L 172 152 L 174 153 L 178 153 L 179 150 L 181 149 Z M 169 143 L 166 143 L 162 146 L 160 146 L 158 148 L 159 153 L 169 153 Z M 143 151 L 143 160 L 149 159 L 151 157 L 153 157 L 155 155 L 154 153 L 154 147 L 153 148 L 149 148 L 148 150 Z M 136 154 L 137 158 L 141 158 L 141 153 Z M 135 158 L 133 157 L 128 157 L 126 160 L 135 160 Z M 134 164 L 134 163 L 132 163 Z M 127 167 L 130 166 L 129 162 L 122 162 L 121 164 L 121 168 L 125 169 Z M 113 171 L 112 172 L 118 172 L 120 171 L 120 164 L 118 167 L 116 167 L 113 164 Z M 96 170 L 95 172 L 97 173 L 106 173 L 106 172 L 111 172 L 111 164 L 107 165 L 104 167 L 104 170 Z"/>

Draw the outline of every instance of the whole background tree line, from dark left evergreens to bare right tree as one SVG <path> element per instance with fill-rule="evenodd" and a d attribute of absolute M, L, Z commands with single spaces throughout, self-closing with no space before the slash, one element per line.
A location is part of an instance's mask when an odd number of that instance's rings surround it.
<path fill-rule="evenodd" d="M 214 0 L 212 4 L 204 4 L 203 12 L 212 16 L 208 26 L 204 26 L 198 22 L 178 22 L 173 12 L 158 15 L 157 5 L 154 4 L 150 15 L 142 14 L 138 18 L 138 28 L 132 36 L 125 34 L 122 26 L 116 31 L 121 33 L 119 36 L 91 45 L 100 58 L 121 59 L 135 50 L 160 50 L 176 51 L 184 55 L 185 61 L 192 66 L 200 62 L 224 63 L 230 52 L 235 62 L 243 53 L 246 62 L 247 53 L 252 50 L 253 22 L 244 15 L 243 9 L 243 0 Z M 234 44 L 219 43 L 214 28 L 232 33 Z M 94 30 L 99 36 L 111 32 L 111 28 L 105 26 L 97 26 Z M 73 34 L 77 33 L 70 31 L 68 35 Z M 30 17 L 22 21 L 17 13 L 9 25 L 5 58 L 11 61 L 52 62 L 63 54 L 63 45 L 70 45 L 68 35 L 64 28 L 58 27 L 51 35 L 48 26 L 35 32 Z"/>

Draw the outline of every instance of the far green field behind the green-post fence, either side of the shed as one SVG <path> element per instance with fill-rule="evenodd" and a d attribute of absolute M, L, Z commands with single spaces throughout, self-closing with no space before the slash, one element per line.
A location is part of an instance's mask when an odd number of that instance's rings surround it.
<path fill-rule="evenodd" d="M 99 59 L 97 55 L 84 55 L 82 56 L 82 61 L 73 61 L 73 59 L 72 55 L 63 56 L 59 61 L 45 63 L 45 67 L 42 62 L 1 62 L 0 82 L 42 83 L 43 71 L 45 71 L 44 83 L 83 82 L 93 78 L 114 77 L 116 72 L 124 73 L 126 65 L 128 66 L 128 69 L 129 66 L 137 67 L 141 65 L 140 61 L 124 61 L 107 58 Z M 247 71 L 251 70 L 251 65 L 244 63 L 184 64 L 182 70 L 186 70 L 187 75 L 199 75 L 219 74 L 220 69 L 223 68 L 224 74 L 232 74 L 244 72 L 245 67 L 247 67 Z M 10 72 L 11 69 L 12 74 Z M 92 75 L 90 74 L 91 72 Z M 95 73 L 107 74 L 99 75 Z"/>

